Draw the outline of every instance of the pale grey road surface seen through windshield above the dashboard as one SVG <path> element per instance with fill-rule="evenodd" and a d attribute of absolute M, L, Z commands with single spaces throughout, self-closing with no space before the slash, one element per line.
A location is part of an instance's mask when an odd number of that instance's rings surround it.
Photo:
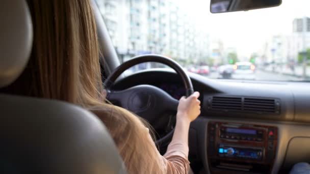
<path fill-rule="evenodd" d="M 217 72 L 211 73 L 209 78 L 221 78 Z M 254 75 L 255 80 L 270 80 L 270 81 L 300 81 L 302 78 L 293 75 L 285 75 L 280 73 L 272 73 L 262 70 L 256 70 Z"/>

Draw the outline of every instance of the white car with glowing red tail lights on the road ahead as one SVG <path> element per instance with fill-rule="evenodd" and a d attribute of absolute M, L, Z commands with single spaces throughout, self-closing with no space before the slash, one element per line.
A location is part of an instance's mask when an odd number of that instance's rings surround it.
<path fill-rule="evenodd" d="M 250 62 L 237 62 L 233 69 L 232 77 L 235 79 L 255 79 L 255 65 Z"/>

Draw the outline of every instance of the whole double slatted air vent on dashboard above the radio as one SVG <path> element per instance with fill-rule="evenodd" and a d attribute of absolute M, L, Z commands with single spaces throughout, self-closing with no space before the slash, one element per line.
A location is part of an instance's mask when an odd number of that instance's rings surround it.
<path fill-rule="evenodd" d="M 280 101 L 270 98 L 213 96 L 208 99 L 208 109 L 214 111 L 280 113 Z"/>

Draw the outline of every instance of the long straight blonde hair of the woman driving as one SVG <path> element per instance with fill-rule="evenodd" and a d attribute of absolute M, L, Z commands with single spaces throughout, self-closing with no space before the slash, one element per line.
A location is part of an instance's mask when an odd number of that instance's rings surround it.
<path fill-rule="evenodd" d="M 31 58 L 22 75 L 2 91 L 90 109 L 110 130 L 127 170 L 139 171 L 141 158 L 154 144 L 140 139 L 145 126 L 139 118 L 102 101 L 97 31 L 89 0 L 27 2 L 34 24 Z M 145 149 L 137 149 L 141 141 Z M 156 152 L 147 154 L 156 158 Z"/>

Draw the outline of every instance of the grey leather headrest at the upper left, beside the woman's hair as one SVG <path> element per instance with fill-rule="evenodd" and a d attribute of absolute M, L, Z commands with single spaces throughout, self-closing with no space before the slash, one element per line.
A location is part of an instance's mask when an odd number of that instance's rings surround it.
<path fill-rule="evenodd" d="M 0 1 L 0 88 L 12 83 L 27 65 L 33 27 L 24 0 Z"/>

